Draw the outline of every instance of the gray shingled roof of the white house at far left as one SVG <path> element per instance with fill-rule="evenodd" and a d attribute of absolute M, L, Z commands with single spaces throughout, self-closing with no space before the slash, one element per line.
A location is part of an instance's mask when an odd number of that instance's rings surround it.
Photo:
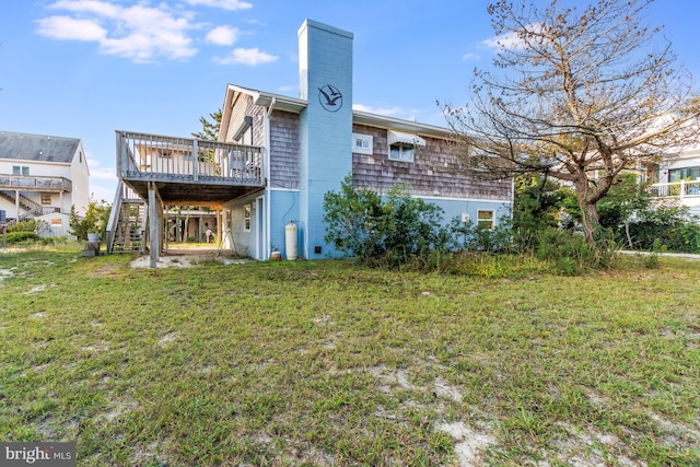
<path fill-rule="evenodd" d="M 0 131 L 0 159 L 70 164 L 79 145 L 78 138 Z"/>

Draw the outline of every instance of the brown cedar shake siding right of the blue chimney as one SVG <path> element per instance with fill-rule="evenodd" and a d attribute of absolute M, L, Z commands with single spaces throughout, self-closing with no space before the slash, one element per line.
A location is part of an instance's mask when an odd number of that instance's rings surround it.
<path fill-rule="evenodd" d="M 355 188 L 386 192 L 397 184 L 408 184 L 415 196 L 511 200 L 511 179 L 483 179 L 478 172 L 462 168 L 455 152 L 457 143 L 422 137 L 413 162 L 389 160 L 387 130 L 353 125 L 352 131 L 373 137 L 373 154 L 352 153 L 352 182 Z"/>

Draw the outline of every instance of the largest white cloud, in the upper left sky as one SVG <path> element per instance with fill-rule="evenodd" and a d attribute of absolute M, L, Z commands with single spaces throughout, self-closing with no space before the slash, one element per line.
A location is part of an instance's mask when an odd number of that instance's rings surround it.
<path fill-rule="evenodd" d="M 150 8 L 121 7 L 101 0 L 59 0 L 50 8 L 73 12 L 79 17 L 56 15 L 39 20 L 37 32 L 46 37 L 94 40 L 103 54 L 142 62 L 156 57 L 187 58 L 197 52 L 186 34 L 195 27 L 187 14 L 178 16 L 164 3 Z"/>

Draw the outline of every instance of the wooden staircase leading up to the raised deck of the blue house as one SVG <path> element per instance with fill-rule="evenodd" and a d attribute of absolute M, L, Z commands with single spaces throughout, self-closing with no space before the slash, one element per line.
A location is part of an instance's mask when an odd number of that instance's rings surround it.
<path fill-rule="evenodd" d="M 107 253 L 143 253 L 145 202 L 121 182 L 107 224 Z"/>

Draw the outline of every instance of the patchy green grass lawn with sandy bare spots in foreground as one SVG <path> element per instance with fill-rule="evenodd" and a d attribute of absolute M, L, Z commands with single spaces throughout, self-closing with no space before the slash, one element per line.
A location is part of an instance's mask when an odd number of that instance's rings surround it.
<path fill-rule="evenodd" d="M 79 465 L 700 463 L 700 262 L 130 259 L 0 254 L 0 441 L 75 441 Z"/>

